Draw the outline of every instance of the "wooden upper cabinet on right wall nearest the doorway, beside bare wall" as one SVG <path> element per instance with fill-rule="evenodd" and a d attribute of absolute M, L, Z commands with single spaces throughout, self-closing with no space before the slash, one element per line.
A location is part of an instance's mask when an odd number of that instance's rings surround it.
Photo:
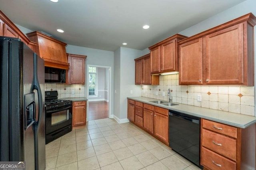
<path fill-rule="evenodd" d="M 135 61 L 135 84 L 159 85 L 159 76 L 151 75 L 150 54 L 144 55 Z"/>

